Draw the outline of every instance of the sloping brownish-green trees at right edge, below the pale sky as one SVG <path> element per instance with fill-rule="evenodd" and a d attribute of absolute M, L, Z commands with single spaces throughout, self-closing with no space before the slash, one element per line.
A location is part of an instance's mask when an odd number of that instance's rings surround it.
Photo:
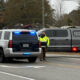
<path fill-rule="evenodd" d="M 80 26 L 80 7 L 69 14 L 62 15 L 56 26 L 59 26 L 60 23 L 62 26 Z"/>

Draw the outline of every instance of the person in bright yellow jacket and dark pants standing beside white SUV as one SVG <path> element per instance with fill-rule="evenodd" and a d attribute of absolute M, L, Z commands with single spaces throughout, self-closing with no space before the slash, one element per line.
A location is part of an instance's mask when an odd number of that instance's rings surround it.
<path fill-rule="evenodd" d="M 42 53 L 40 55 L 40 61 L 45 61 L 46 60 L 46 51 L 47 47 L 49 46 L 49 38 L 46 36 L 45 32 L 42 32 L 39 40 L 41 42 L 41 48 L 42 48 Z"/>

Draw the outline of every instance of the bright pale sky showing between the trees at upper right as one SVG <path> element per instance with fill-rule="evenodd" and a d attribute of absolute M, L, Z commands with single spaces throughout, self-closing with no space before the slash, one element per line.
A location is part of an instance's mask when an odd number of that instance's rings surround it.
<path fill-rule="evenodd" d="M 52 8 L 56 9 L 58 12 L 60 0 L 49 0 Z M 63 0 L 62 1 L 62 14 L 63 13 L 70 13 L 72 10 L 75 10 L 79 6 L 80 0 Z"/>

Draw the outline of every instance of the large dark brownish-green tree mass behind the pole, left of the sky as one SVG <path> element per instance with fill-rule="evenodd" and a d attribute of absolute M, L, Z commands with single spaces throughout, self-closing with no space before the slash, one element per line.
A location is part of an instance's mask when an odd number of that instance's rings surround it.
<path fill-rule="evenodd" d="M 52 25 L 53 9 L 49 2 L 45 1 L 46 23 Z M 6 3 L 5 20 L 6 25 L 17 23 L 36 24 L 42 26 L 42 2 L 41 0 L 8 0 Z"/>

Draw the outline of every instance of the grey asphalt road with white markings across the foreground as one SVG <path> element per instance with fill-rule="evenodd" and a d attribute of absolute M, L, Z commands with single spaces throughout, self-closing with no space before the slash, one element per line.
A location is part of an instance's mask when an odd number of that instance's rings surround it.
<path fill-rule="evenodd" d="M 53 56 L 36 63 L 0 63 L 0 80 L 80 80 L 80 58 Z"/>

